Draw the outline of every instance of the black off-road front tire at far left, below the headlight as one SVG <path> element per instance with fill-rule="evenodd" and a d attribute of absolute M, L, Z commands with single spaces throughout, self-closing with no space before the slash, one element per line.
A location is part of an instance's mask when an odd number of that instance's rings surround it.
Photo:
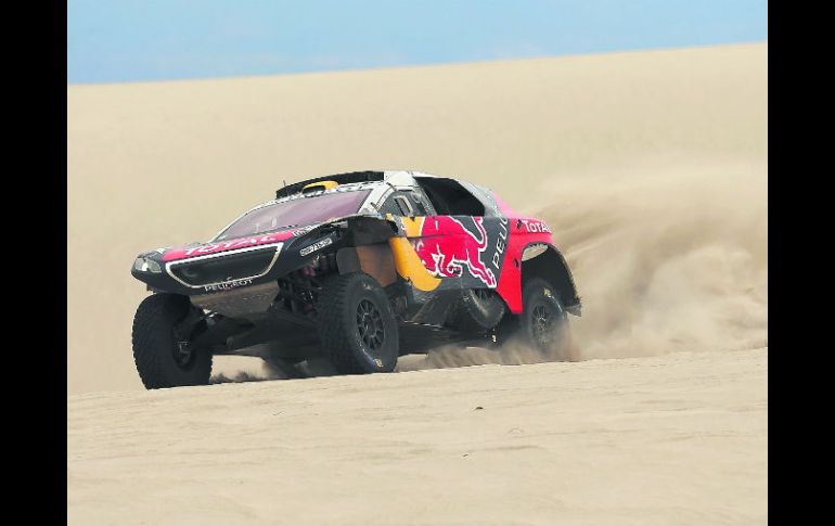
<path fill-rule="evenodd" d="M 133 317 L 133 361 L 145 388 L 208 384 L 211 354 L 194 349 L 183 359 L 175 336 L 175 326 L 191 308 L 188 297 L 167 293 L 139 304 Z"/>

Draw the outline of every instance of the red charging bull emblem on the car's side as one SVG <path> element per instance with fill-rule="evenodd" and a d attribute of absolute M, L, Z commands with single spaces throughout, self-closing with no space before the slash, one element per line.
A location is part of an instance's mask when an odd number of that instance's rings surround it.
<path fill-rule="evenodd" d="M 459 278 L 466 267 L 472 277 L 489 287 L 496 287 L 496 275 L 481 262 L 481 253 L 487 248 L 484 219 L 474 217 L 473 222 L 478 235 L 453 217 L 427 217 L 414 251 L 426 270 L 435 277 Z"/>

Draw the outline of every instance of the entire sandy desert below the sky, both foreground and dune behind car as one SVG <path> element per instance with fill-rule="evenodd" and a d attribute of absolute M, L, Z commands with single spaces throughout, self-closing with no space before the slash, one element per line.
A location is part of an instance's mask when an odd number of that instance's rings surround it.
<path fill-rule="evenodd" d="M 69 523 L 766 523 L 767 74 L 761 43 L 68 87 Z M 137 253 L 369 168 L 543 217 L 584 361 L 142 389 Z"/>

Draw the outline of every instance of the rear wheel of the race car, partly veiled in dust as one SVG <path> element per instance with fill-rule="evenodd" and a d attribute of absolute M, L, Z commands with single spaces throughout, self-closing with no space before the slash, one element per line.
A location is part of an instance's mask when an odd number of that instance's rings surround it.
<path fill-rule="evenodd" d="M 541 278 L 528 280 L 522 291 L 522 308 L 519 316 L 509 313 L 499 323 L 498 343 L 521 343 L 549 360 L 571 359 L 568 316 L 556 288 Z"/>

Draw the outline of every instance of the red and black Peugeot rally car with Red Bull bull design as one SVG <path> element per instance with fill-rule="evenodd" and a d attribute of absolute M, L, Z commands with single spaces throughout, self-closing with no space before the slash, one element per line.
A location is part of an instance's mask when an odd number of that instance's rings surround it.
<path fill-rule="evenodd" d="M 207 384 L 214 355 L 283 368 L 389 372 L 401 355 L 515 337 L 550 356 L 580 316 L 539 220 L 490 190 L 414 171 L 358 171 L 278 190 L 207 243 L 140 254 L 153 292 L 133 319 L 149 389 Z"/>

